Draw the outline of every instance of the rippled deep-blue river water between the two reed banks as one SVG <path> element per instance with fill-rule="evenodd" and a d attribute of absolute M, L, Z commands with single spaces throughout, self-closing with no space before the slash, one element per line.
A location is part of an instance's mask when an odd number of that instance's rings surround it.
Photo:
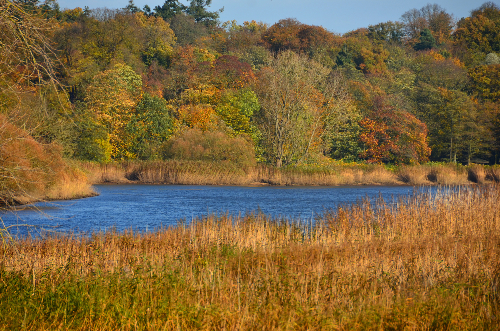
<path fill-rule="evenodd" d="M 118 230 L 153 230 L 190 221 L 208 213 L 237 215 L 261 212 L 272 216 L 310 219 L 325 208 L 362 197 L 385 199 L 412 193 L 411 186 L 207 186 L 207 185 L 95 185 L 98 196 L 37 203 L 37 209 L 7 211 L 5 225 L 55 226 L 58 231 L 86 231 L 115 226 Z M 12 228 L 12 230 L 14 230 Z M 21 234 L 25 228 L 19 227 Z M 15 231 L 13 231 L 15 233 Z"/>

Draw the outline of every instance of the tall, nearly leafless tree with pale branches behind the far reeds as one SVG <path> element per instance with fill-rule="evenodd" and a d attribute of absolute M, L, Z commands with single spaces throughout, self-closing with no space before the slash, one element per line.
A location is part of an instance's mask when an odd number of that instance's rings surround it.
<path fill-rule="evenodd" d="M 339 75 L 305 55 L 280 52 L 261 70 L 256 86 L 260 130 L 277 167 L 305 160 L 338 123 L 347 101 Z"/>

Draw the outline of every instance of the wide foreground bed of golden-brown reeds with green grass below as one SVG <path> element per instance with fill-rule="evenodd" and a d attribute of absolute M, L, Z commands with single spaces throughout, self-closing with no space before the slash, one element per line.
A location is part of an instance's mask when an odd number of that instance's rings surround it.
<path fill-rule="evenodd" d="M 0 330 L 496 330 L 500 188 L 361 200 L 314 224 L 23 238 L 0 261 Z"/>

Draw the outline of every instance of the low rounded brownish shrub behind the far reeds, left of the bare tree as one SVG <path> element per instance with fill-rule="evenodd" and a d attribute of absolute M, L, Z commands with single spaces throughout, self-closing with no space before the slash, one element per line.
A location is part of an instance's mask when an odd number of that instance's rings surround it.
<path fill-rule="evenodd" d="M 164 159 L 227 161 L 246 165 L 255 162 L 253 147 L 242 137 L 230 137 L 219 131 L 202 132 L 196 128 L 189 128 L 163 143 L 161 155 Z"/>

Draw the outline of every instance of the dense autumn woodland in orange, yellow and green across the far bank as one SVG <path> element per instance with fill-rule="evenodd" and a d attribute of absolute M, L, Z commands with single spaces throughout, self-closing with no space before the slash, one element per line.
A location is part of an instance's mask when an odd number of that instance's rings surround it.
<path fill-rule="evenodd" d="M 461 19 L 427 4 L 342 35 L 293 18 L 220 22 L 211 0 L 6 2 L 38 24 L 34 58 L 49 70 L 2 58 L 2 112 L 68 158 L 497 162 L 493 2 Z"/>

